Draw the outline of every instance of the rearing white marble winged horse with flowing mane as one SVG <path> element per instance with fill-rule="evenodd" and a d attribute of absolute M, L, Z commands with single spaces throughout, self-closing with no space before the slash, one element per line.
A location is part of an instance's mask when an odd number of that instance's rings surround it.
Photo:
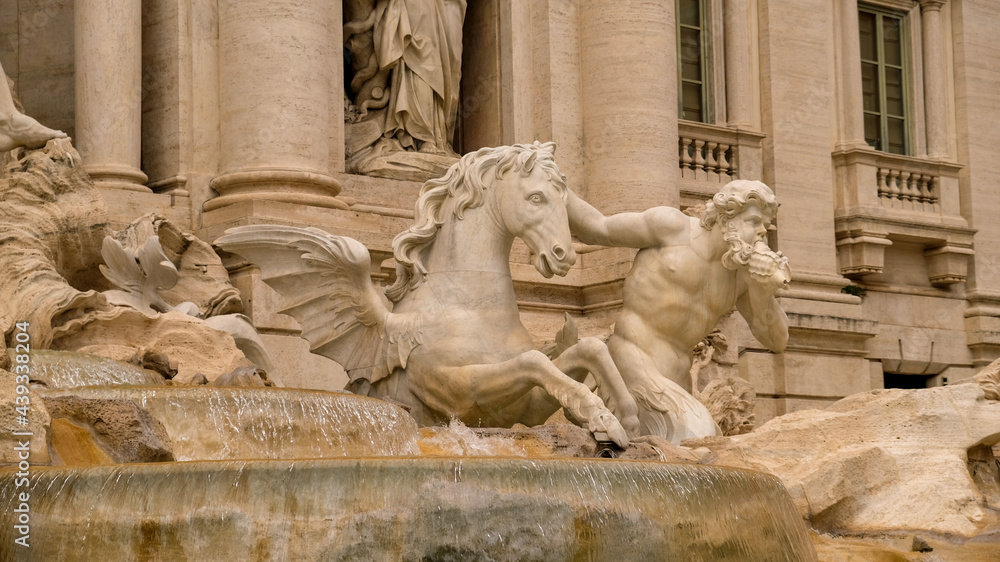
<path fill-rule="evenodd" d="M 484 148 L 426 182 L 413 226 L 393 240 L 391 311 L 371 281 L 368 250 L 351 238 L 254 225 L 228 230 L 216 245 L 260 268 L 313 353 L 340 363 L 357 393 L 402 402 L 422 425 L 531 426 L 561 407 L 624 446 L 638 435 L 637 409 L 604 343 L 583 338 L 550 360 L 533 348 L 517 310 L 515 238 L 546 278 L 576 261 L 554 150 Z M 587 373 L 600 396 L 583 384 Z"/>

